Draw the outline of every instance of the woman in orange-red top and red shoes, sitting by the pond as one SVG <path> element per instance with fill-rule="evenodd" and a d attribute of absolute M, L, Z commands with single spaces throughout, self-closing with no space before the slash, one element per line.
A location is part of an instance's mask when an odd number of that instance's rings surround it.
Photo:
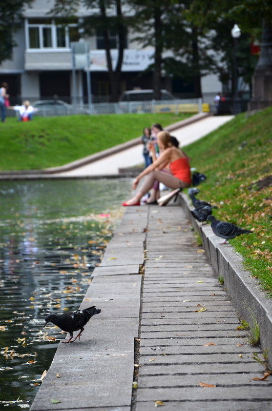
<path fill-rule="evenodd" d="M 160 156 L 133 181 L 132 188 L 135 190 L 140 179 L 145 175 L 148 176 L 137 194 L 132 199 L 124 202 L 123 206 L 140 205 L 140 199 L 151 189 L 155 180 L 173 189 L 190 187 L 191 171 L 185 153 L 172 145 L 171 135 L 168 131 L 158 133 L 157 143 L 161 152 Z M 165 166 L 165 164 L 169 164 L 171 174 L 156 170 L 161 168 L 162 165 Z"/>

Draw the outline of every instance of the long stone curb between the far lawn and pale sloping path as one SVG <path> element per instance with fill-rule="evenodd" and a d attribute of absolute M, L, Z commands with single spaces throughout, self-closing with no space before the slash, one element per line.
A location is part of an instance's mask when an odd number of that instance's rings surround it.
<path fill-rule="evenodd" d="M 193 124 L 197 121 L 200 121 L 202 119 L 205 119 L 206 117 L 210 116 L 210 113 L 198 113 L 196 115 L 193 115 L 189 119 L 181 120 L 177 123 L 171 124 L 170 126 L 165 127 L 165 130 L 168 131 L 174 131 L 177 128 L 185 127 L 189 124 Z M 88 155 L 86 157 L 83 157 L 82 159 L 72 161 L 71 163 L 65 164 L 64 166 L 60 167 L 51 167 L 51 168 L 46 168 L 44 170 L 20 170 L 20 171 L 0 171 L 0 177 L 2 176 L 17 176 L 18 175 L 30 175 L 31 177 L 35 178 L 40 178 L 41 175 L 44 177 L 45 175 L 50 175 L 50 174 L 55 174 L 55 173 L 60 173 L 60 172 L 65 172 L 65 171 L 71 171 L 74 170 L 75 168 L 85 166 L 90 163 L 94 163 L 95 161 L 102 160 L 109 155 L 113 155 L 116 153 L 119 153 L 120 151 L 127 150 L 129 148 L 135 147 L 138 144 L 140 144 L 141 138 L 137 137 L 136 139 L 130 140 L 126 143 L 119 144 L 115 147 L 108 148 L 107 150 L 100 151 L 98 153 Z M 36 177 L 38 176 L 38 177 Z M 108 177 L 108 176 L 107 176 Z"/>

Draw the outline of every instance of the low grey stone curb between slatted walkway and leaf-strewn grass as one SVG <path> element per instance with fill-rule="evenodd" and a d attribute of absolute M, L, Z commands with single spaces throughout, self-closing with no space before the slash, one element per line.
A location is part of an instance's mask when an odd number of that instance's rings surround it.
<path fill-rule="evenodd" d="M 219 244 L 210 225 L 201 225 L 194 219 L 190 210 L 190 200 L 182 194 L 181 207 L 196 231 L 200 233 L 203 248 L 218 276 L 223 276 L 224 286 L 231 296 L 241 319 L 250 326 L 254 319 L 260 327 L 262 350 L 268 349 L 269 364 L 272 364 L 272 300 L 265 297 L 258 282 L 250 277 L 250 272 L 243 268 L 243 259 L 231 244 Z"/>

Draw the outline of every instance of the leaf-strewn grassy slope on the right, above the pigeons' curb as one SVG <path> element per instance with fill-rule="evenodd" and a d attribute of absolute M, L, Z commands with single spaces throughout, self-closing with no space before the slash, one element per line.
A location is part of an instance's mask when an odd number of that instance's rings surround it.
<path fill-rule="evenodd" d="M 254 233 L 231 240 L 245 268 L 272 297 L 272 108 L 245 113 L 184 150 L 207 175 L 198 197 L 218 205 L 213 214 Z"/>

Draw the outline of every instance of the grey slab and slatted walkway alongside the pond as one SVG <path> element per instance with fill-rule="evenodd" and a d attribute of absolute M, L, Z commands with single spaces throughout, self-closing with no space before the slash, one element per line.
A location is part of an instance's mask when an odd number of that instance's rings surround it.
<path fill-rule="evenodd" d="M 179 204 L 128 207 L 81 304 L 102 311 L 59 345 L 31 411 L 271 410 L 216 277 Z"/>

